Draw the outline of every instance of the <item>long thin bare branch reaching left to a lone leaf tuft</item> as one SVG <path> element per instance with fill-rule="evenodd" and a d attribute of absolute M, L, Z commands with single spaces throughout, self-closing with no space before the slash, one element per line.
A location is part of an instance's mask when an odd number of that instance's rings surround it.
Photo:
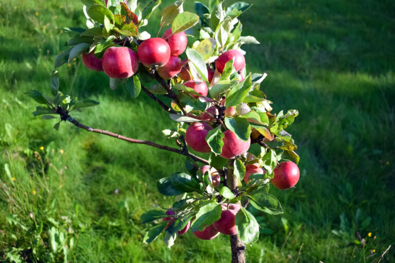
<path fill-rule="evenodd" d="M 132 144 L 149 145 L 149 146 L 161 149 L 161 150 L 166 150 L 166 151 L 175 152 L 175 153 L 178 153 L 178 154 L 181 154 L 181 155 L 189 156 L 194 161 L 199 161 L 200 163 L 203 163 L 205 165 L 209 164 L 208 160 L 203 159 L 203 158 L 201 158 L 199 156 L 196 156 L 196 155 L 194 155 L 192 153 L 189 153 L 188 151 L 185 151 L 185 149 L 176 149 L 176 148 L 168 147 L 168 146 L 165 146 L 165 145 L 159 145 L 159 144 L 153 143 L 152 141 L 149 141 L 149 140 L 133 139 L 133 138 L 125 137 L 125 136 L 122 136 L 122 135 L 119 135 L 119 134 L 116 134 L 116 133 L 113 133 L 113 132 L 87 127 L 87 126 L 85 126 L 83 124 L 80 124 L 76 119 L 72 118 L 70 115 L 68 115 L 68 113 L 66 113 L 60 107 L 56 108 L 56 113 L 58 113 L 60 115 L 61 120 L 64 120 L 64 121 L 67 120 L 68 122 L 74 124 L 78 128 L 84 129 L 86 131 L 104 134 L 104 135 L 111 136 L 111 137 L 114 137 L 114 138 L 117 138 L 117 139 L 128 141 L 129 143 L 132 143 Z"/>

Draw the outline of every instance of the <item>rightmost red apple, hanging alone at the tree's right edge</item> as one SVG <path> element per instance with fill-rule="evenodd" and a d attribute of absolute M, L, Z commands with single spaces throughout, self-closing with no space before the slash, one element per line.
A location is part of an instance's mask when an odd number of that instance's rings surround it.
<path fill-rule="evenodd" d="M 299 168 L 292 161 L 283 161 L 273 170 L 271 183 L 278 189 L 285 190 L 294 187 L 299 180 Z"/>

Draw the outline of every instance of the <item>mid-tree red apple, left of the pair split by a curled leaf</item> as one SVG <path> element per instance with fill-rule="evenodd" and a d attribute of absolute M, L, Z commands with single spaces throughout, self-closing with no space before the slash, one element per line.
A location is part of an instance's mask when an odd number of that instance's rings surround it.
<path fill-rule="evenodd" d="M 212 127 L 206 123 L 194 123 L 190 125 L 185 133 L 185 140 L 189 147 L 196 152 L 210 152 L 210 146 L 206 141 L 206 136 Z"/>

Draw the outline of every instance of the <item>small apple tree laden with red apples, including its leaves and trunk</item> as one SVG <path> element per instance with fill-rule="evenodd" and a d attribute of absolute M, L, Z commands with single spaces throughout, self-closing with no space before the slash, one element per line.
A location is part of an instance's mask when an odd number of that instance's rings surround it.
<path fill-rule="evenodd" d="M 245 262 L 244 244 L 259 237 L 258 222 L 246 206 L 282 213 L 279 201 L 268 193 L 270 182 L 287 189 L 299 179 L 297 146 L 285 131 L 298 111 L 272 114 L 272 102 L 260 90 L 266 74 L 246 71 L 241 46 L 259 42 L 241 35 L 238 17 L 252 5 L 238 2 L 225 10 L 222 2 L 210 0 L 208 6 L 195 2 L 196 13 L 191 13 L 183 10 L 184 0 L 176 1 L 163 11 L 158 35 L 171 27 L 159 38 L 142 28 L 160 0 L 143 8 L 137 0 L 82 2 L 87 28 L 63 29 L 74 35 L 67 42 L 69 49 L 57 56 L 55 68 L 82 55 L 87 68 L 110 77 L 111 89 L 122 86 L 134 98 L 143 91 L 175 120 L 174 127 L 162 133 L 176 145 L 158 145 L 79 123 L 70 114 L 99 103 L 79 102 L 60 92 L 57 71 L 51 76 L 52 96 L 27 93 L 44 105 L 33 115 L 58 118 L 57 130 L 62 121 L 70 122 L 86 131 L 186 156 L 188 173 L 157 181 L 161 194 L 179 198 L 169 209 L 158 207 L 141 215 L 141 223 L 151 226 L 143 242 L 164 232 L 170 248 L 189 229 L 206 240 L 222 233 L 230 235 L 232 262 Z M 171 105 L 158 94 L 172 98 Z M 206 153 L 208 159 L 189 148 Z"/>

